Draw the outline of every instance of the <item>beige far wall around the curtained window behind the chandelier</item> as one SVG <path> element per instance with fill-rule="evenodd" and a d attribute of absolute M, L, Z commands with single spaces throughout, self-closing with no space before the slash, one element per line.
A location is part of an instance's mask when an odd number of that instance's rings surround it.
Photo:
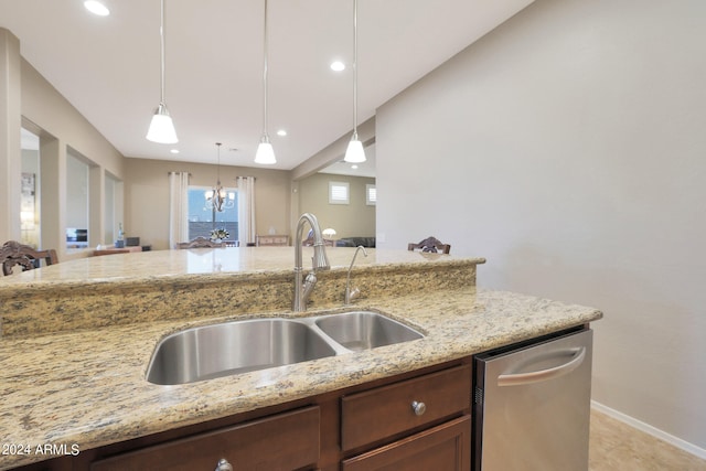
<path fill-rule="evenodd" d="M 153 250 L 169 248 L 169 172 L 190 172 L 190 184 L 213 186 L 216 165 L 126 159 L 126 235 L 140 237 L 141 245 Z M 221 182 L 235 186 L 236 176 L 255 176 L 255 218 L 258 234 L 270 227 L 277 234 L 290 234 L 289 171 L 221 165 Z"/>

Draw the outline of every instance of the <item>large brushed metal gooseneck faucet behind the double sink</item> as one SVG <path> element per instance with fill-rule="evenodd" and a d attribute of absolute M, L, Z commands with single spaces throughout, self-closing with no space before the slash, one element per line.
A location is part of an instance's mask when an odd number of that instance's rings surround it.
<path fill-rule="evenodd" d="M 303 235 L 304 223 L 308 222 L 313 231 L 313 257 L 311 259 L 312 270 L 307 275 L 307 279 L 302 282 L 302 264 L 301 264 L 301 236 Z M 297 238 L 295 239 L 295 300 L 292 310 L 295 312 L 307 310 L 307 300 L 317 283 L 315 272 L 319 270 L 328 270 L 331 268 L 327 258 L 327 250 L 323 245 L 323 236 L 317 216 L 311 213 L 304 213 L 299 217 L 297 224 Z M 303 286 L 302 286 L 303 285 Z"/>

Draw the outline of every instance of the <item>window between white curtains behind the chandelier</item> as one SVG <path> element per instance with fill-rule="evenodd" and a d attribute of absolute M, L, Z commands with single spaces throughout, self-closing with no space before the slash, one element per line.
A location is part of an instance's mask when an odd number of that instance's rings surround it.
<path fill-rule="evenodd" d="M 236 189 L 224 189 L 226 199 L 224 210 L 216 211 L 208 201 L 206 192 L 213 191 L 206 186 L 189 186 L 189 239 L 211 237 L 211 231 L 225 228 L 228 232 L 226 240 L 238 239 L 238 193 Z"/>

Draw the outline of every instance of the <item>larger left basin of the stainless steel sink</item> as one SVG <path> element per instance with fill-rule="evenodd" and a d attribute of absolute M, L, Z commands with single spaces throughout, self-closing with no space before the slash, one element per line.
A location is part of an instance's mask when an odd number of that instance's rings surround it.
<path fill-rule="evenodd" d="M 174 385 L 335 355 L 307 324 L 254 319 L 189 329 L 163 339 L 147 381 Z"/>

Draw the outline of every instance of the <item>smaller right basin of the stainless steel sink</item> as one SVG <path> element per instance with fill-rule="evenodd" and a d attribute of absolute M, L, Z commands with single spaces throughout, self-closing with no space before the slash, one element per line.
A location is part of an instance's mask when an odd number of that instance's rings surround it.
<path fill-rule="evenodd" d="M 370 311 L 322 315 L 314 323 L 335 342 L 354 352 L 424 336 L 400 322 Z"/>

